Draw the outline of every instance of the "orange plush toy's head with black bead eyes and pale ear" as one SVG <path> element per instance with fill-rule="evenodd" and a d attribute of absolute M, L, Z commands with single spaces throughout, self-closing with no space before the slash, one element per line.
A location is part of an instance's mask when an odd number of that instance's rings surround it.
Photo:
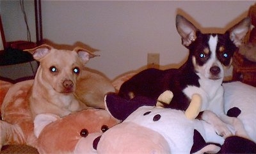
<path fill-rule="evenodd" d="M 55 114 L 38 114 L 35 134 L 39 153 L 87 153 L 93 149 L 90 134 L 100 135 L 119 121 L 102 109 L 88 109 L 60 118 Z M 89 139 L 88 139 L 89 138 Z M 86 139 L 86 142 L 81 141 Z M 88 146 L 86 146 L 88 145 Z"/>

